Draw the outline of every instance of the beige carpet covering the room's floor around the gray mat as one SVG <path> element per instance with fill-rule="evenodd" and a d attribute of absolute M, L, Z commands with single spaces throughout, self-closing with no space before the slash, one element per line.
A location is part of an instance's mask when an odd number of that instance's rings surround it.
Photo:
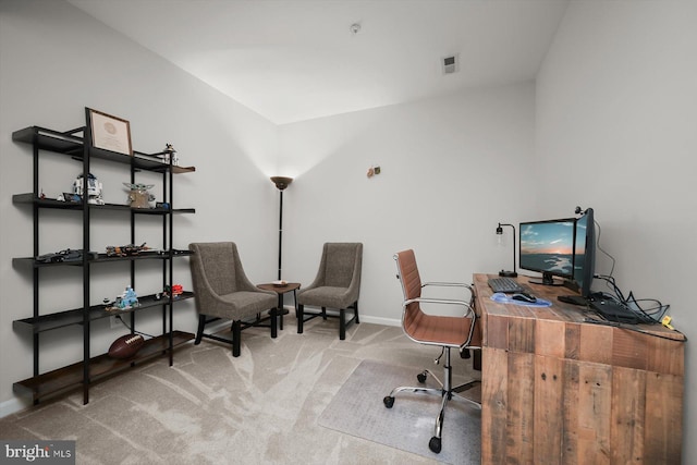
<path fill-rule="evenodd" d="M 161 359 L 97 384 L 87 405 L 74 393 L 2 418 L 0 439 L 75 440 L 78 464 L 437 463 L 318 424 L 364 359 L 432 367 L 437 355 L 400 328 L 364 322 L 339 341 L 335 320 L 297 334 L 290 317 L 276 340 L 245 330 L 239 358 L 217 342 L 181 348 L 172 367 Z"/>

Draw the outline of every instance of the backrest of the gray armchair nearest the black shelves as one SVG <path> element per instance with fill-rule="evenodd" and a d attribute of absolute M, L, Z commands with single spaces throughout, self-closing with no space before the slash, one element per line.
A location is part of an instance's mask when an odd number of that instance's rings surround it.
<path fill-rule="evenodd" d="M 218 295 L 237 291 L 237 270 L 241 264 L 234 242 L 196 243 L 191 245 L 192 266 Z M 240 266 L 239 266 L 240 265 Z"/>

